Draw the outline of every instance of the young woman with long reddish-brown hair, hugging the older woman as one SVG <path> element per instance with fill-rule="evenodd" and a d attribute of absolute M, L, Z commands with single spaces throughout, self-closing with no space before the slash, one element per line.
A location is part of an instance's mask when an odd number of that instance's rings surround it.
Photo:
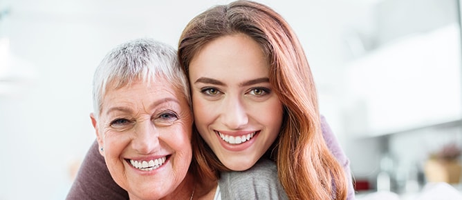
<path fill-rule="evenodd" d="M 354 198 L 347 158 L 328 127 L 323 137 L 304 50 L 277 12 L 252 1 L 210 8 L 183 31 L 178 58 L 191 85 L 192 165 L 210 169 L 203 179 L 221 183 L 268 158 L 289 199 Z"/>

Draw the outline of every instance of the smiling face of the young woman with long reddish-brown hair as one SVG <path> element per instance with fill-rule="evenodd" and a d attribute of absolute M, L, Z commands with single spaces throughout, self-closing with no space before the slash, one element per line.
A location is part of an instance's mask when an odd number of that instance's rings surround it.
<path fill-rule="evenodd" d="M 194 123 L 231 170 L 251 168 L 279 134 L 283 106 L 268 74 L 266 56 L 244 34 L 214 39 L 190 63 Z"/>

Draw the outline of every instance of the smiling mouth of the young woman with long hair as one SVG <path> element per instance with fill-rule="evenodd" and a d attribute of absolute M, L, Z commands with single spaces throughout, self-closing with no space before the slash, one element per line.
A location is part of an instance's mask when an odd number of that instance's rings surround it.
<path fill-rule="evenodd" d="M 232 136 L 230 134 L 215 131 L 216 137 L 218 137 L 221 146 L 230 151 L 241 151 L 252 146 L 252 143 L 254 143 L 259 132 L 260 131 L 255 131 L 247 134 L 241 134 L 239 136 Z"/>

